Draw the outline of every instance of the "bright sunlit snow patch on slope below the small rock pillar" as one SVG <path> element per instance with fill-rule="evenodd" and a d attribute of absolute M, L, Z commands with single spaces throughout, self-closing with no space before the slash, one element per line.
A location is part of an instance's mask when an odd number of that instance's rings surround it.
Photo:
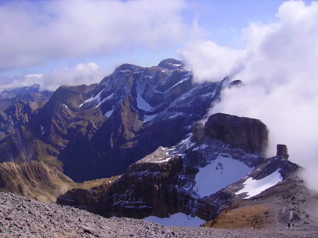
<path fill-rule="evenodd" d="M 267 188 L 273 187 L 277 183 L 281 182 L 284 178 L 281 176 L 280 171 L 281 169 L 277 169 L 272 174 L 262 178 L 260 180 L 252 179 L 249 177 L 243 184 L 245 185 L 244 188 L 236 192 L 235 194 L 241 194 L 247 192 L 247 198 L 251 198 L 253 196 L 259 195 L 261 192 L 265 191 Z"/>

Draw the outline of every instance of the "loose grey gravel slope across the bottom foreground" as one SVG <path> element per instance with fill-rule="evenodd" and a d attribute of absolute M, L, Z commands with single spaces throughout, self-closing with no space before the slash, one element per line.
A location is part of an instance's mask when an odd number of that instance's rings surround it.
<path fill-rule="evenodd" d="M 213 229 L 164 227 L 131 218 L 104 218 L 77 208 L 60 206 L 0 192 L 0 237 L 317 237 L 318 233 L 276 229 Z"/>

